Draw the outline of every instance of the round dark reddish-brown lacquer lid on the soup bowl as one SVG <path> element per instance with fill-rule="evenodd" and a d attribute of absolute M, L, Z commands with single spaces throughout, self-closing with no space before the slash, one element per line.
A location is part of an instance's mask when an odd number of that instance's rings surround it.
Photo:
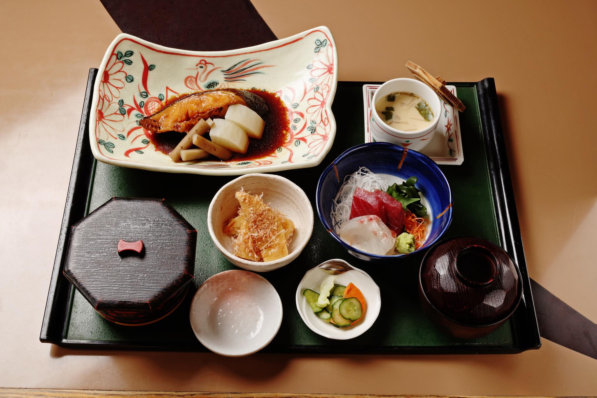
<path fill-rule="evenodd" d="M 510 256 L 478 237 L 440 242 L 423 258 L 427 301 L 450 320 L 489 325 L 510 316 L 521 294 L 521 275 Z"/>

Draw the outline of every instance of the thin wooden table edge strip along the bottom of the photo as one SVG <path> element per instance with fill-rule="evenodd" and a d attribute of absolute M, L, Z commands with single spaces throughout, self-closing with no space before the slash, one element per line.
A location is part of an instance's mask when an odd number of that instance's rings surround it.
<path fill-rule="evenodd" d="M 396 397 L 396 398 L 510 398 L 514 396 L 487 395 L 378 395 L 378 394 L 287 394 L 287 393 L 186 393 L 177 391 L 116 391 L 116 390 L 54 390 L 43 388 L 0 388 L 0 398 L 358 398 L 358 397 Z M 553 396 L 516 396 L 517 398 L 554 398 Z M 590 397 L 578 397 L 590 398 Z M 592 397 L 595 398 L 595 397 Z"/>

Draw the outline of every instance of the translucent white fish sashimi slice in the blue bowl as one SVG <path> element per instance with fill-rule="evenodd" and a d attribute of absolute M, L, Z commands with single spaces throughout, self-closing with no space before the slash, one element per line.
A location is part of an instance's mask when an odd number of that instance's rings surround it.
<path fill-rule="evenodd" d="M 353 248 L 370 254 L 391 255 L 394 251 L 396 235 L 377 215 L 363 215 L 347 221 L 339 235 Z"/>

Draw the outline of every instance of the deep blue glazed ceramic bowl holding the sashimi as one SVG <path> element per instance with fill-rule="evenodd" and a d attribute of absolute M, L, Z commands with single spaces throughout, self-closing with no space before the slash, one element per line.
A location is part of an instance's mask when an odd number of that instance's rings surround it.
<path fill-rule="evenodd" d="M 400 163 L 402 163 L 400 165 Z M 344 177 L 365 166 L 374 173 L 387 174 L 407 180 L 416 175 L 416 187 L 429 202 L 427 214 L 431 223 L 423 248 L 410 254 L 376 255 L 353 248 L 340 239 L 333 228 L 331 208 L 334 198 L 344 182 Z M 392 181 L 389 181 L 391 184 Z M 367 143 L 346 150 L 319 177 L 316 193 L 317 213 L 325 229 L 350 254 L 365 261 L 392 263 L 397 258 L 424 251 L 435 243 L 448 229 L 452 221 L 452 195 L 444 173 L 429 157 L 416 150 L 404 149 L 390 143 Z"/>

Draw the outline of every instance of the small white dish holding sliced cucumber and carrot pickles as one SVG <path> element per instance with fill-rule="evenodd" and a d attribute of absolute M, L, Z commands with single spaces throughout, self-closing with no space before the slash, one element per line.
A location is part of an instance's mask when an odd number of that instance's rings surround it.
<path fill-rule="evenodd" d="M 296 291 L 297 310 L 304 323 L 309 326 L 316 334 L 335 340 L 348 340 L 362 335 L 367 329 L 371 328 L 379 311 L 381 309 L 381 294 L 379 286 L 374 280 L 363 270 L 351 270 L 338 275 L 336 282 L 339 285 L 348 285 L 353 283 L 362 292 L 367 303 L 367 310 L 363 315 L 363 319 L 359 320 L 355 325 L 344 328 L 336 328 L 331 323 L 324 322 L 313 313 L 313 310 L 307 303 L 303 296 L 304 289 L 311 289 L 319 293 L 319 285 L 329 275 L 318 269 L 317 267 L 310 269 L 304 274 L 303 279 L 298 284 Z"/>

